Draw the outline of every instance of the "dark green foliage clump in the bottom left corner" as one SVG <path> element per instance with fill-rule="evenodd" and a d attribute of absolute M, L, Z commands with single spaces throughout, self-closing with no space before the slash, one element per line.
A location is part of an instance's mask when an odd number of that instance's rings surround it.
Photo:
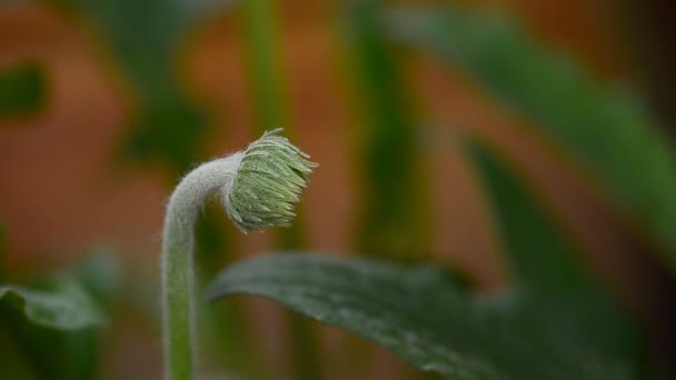
<path fill-rule="evenodd" d="M 97 328 L 105 319 L 76 282 L 38 291 L 0 287 L 0 328 L 13 337 L 42 379 L 92 379 L 99 354 Z"/>

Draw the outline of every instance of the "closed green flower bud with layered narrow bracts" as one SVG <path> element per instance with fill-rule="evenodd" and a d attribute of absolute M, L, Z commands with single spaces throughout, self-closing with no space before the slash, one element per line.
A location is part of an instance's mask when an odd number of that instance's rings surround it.
<path fill-rule="evenodd" d="M 267 131 L 245 151 L 237 176 L 223 191 L 228 214 L 242 232 L 289 226 L 294 203 L 317 163 L 286 138 Z"/>

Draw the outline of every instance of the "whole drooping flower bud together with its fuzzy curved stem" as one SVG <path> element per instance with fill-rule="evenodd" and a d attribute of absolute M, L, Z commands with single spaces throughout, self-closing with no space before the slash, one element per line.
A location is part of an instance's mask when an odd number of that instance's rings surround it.
<path fill-rule="evenodd" d="M 166 379 L 193 378 L 192 252 L 205 200 L 220 191 L 228 216 L 242 232 L 288 226 L 295 217 L 294 204 L 317 164 L 280 131 L 266 132 L 245 151 L 197 167 L 169 199 L 161 252 Z"/>

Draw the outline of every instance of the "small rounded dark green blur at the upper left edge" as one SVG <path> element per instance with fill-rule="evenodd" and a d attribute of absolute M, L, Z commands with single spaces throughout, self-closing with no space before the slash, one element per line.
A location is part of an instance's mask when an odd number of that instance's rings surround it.
<path fill-rule="evenodd" d="M 36 112 L 44 102 L 46 76 L 37 63 L 19 63 L 0 71 L 0 117 Z"/>

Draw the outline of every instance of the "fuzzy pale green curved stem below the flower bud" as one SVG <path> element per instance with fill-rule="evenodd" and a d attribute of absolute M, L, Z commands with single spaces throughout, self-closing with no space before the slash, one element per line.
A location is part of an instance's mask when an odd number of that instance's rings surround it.
<path fill-rule="evenodd" d="M 193 379 L 195 223 L 203 201 L 217 190 L 231 186 L 242 156 L 242 152 L 237 152 L 198 167 L 180 181 L 169 199 L 161 253 L 167 380 Z"/>

